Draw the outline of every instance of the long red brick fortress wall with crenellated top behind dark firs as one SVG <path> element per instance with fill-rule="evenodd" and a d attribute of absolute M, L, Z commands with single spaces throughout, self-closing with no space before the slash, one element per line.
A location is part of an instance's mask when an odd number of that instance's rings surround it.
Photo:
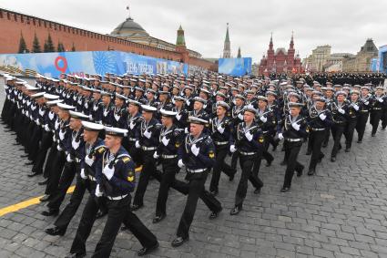
<path fill-rule="evenodd" d="M 17 53 L 21 33 L 23 33 L 25 43 L 30 51 L 35 34 L 39 39 L 42 50 L 45 40 L 48 34 L 50 34 L 54 46 L 56 47 L 58 41 L 60 41 L 67 51 L 71 51 L 74 43 L 76 51 L 107 51 L 107 49 L 113 49 L 175 61 L 181 61 L 183 58 L 178 52 L 163 50 L 154 46 L 141 45 L 113 36 L 105 36 L 76 27 L 57 24 L 34 16 L 0 9 L 0 53 Z M 190 59 L 188 59 L 188 64 L 191 63 Z M 195 58 L 193 62 L 195 66 L 208 69 L 213 66 L 213 63 L 204 59 Z"/>

